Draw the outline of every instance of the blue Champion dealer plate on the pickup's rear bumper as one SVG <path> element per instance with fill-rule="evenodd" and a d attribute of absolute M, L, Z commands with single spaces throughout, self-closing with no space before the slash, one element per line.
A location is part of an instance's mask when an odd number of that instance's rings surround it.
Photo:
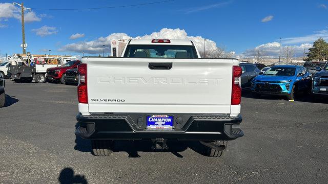
<path fill-rule="evenodd" d="M 173 128 L 173 116 L 168 115 L 152 115 L 147 116 L 148 129 L 164 129 Z"/>

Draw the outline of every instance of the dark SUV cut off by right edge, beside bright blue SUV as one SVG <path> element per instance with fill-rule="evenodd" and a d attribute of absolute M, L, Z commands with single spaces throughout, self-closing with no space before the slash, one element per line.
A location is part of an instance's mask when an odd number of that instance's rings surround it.
<path fill-rule="evenodd" d="M 318 66 L 318 71 L 312 81 L 312 93 L 314 96 L 328 96 L 328 63 L 324 67 Z"/>

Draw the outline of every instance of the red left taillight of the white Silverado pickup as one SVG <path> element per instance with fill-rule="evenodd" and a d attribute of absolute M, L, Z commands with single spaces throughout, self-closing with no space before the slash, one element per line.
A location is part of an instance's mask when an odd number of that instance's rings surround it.
<path fill-rule="evenodd" d="M 78 86 L 77 98 L 79 103 L 88 103 L 88 88 L 87 88 L 87 64 L 79 64 L 77 66 Z"/>

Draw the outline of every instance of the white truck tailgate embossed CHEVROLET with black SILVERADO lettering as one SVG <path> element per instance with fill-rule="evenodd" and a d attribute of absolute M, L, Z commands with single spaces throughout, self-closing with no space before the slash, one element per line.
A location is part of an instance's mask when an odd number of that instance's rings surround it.
<path fill-rule="evenodd" d="M 89 112 L 230 113 L 232 59 L 84 59 Z"/>

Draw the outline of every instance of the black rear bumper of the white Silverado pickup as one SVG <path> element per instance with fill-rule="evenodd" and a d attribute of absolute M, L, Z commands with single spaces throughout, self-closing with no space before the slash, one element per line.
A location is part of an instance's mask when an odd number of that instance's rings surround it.
<path fill-rule="evenodd" d="M 92 140 L 141 140 L 176 139 L 217 141 L 234 140 L 243 136 L 239 128 L 241 116 L 228 117 L 219 114 L 172 114 L 173 129 L 149 130 L 146 113 L 77 114 L 79 126 L 75 134 Z M 177 123 L 176 119 L 182 118 Z"/>

